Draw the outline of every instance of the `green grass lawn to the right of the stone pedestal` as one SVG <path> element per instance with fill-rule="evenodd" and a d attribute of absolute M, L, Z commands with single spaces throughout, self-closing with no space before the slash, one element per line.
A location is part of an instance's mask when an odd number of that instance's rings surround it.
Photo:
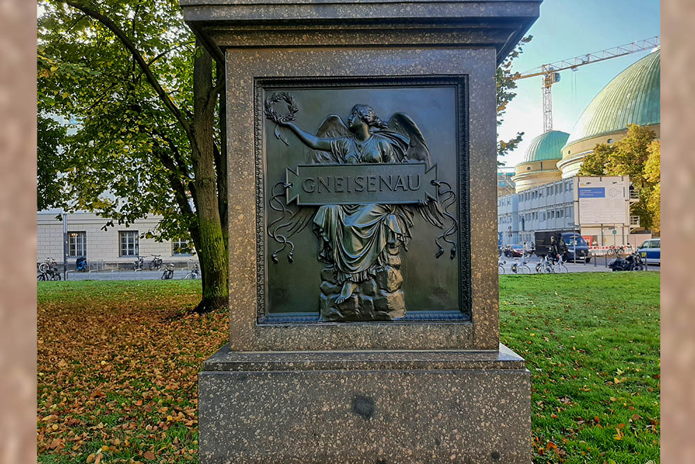
<path fill-rule="evenodd" d="M 658 463 L 660 275 L 500 276 L 500 338 L 532 376 L 535 463 Z"/>

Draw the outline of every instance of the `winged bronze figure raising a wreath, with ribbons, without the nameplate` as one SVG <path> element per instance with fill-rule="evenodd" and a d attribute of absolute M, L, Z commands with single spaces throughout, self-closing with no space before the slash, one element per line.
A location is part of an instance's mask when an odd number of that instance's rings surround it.
<path fill-rule="evenodd" d="M 340 116 L 329 115 L 316 135 L 298 127 L 293 122 L 294 113 L 296 108 L 291 109 L 290 118 L 284 118 L 266 104 L 268 119 L 290 129 L 309 147 L 308 164 L 417 162 L 425 163 L 428 170 L 432 167 L 422 132 L 404 113 L 395 113 L 386 123 L 371 106 L 357 104 L 352 107 L 347 124 Z M 281 138 L 277 131 L 276 136 Z M 455 202 L 455 193 L 446 182 L 434 182 L 437 198 L 411 205 L 322 205 L 289 210 L 289 205 L 280 200 L 284 191 L 276 194 L 273 189 L 271 207 L 282 216 L 270 223 L 268 233 L 283 245 L 273 254 L 273 260 L 277 262 L 277 253 L 291 246 L 288 258 L 292 261 L 294 246 L 288 239 L 311 223 L 319 241 L 318 259 L 332 267 L 336 283 L 342 286 L 335 301 L 339 305 L 350 298 L 360 282 L 374 278 L 389 261 L 389 255 L 397 255 L 400 248 L 407 250 L 415 211 L 427 223 L 445 231 L 436 239 L 436 257 L 444 251 L 439 243 L 443 240 L 450 243 L 453 259 L 456 244 L 448 237 L 456 230 L 456 219 L 447 209 Z M 278 186 L 287 187 L 283 182 Z"/>

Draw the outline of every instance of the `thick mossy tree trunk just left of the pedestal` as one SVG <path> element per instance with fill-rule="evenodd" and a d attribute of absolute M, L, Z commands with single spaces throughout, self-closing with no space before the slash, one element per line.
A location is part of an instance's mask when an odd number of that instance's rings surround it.
<path fill-rule="evenodd" d="M 200 45 L 200 44 L 197 44 Z M 213 89 L 212 58 L 203 47 L 193 62 L 193 141 L 199 261 L 203 297 L 195 308 L 205 313 L 229 304 L 227 251 L 222 237 L 215 173 L 214 127 L 217 96 Z"/>

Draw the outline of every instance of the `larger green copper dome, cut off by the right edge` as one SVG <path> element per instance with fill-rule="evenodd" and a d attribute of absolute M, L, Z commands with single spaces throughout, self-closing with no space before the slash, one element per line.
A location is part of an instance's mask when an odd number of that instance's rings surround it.
<path fill-rule="evenodd" d="M 565 146 L 625 130 L 628 124 L 660 124 L 661 50 L 657 49 L 618 74 L 591 100 Z"/>

